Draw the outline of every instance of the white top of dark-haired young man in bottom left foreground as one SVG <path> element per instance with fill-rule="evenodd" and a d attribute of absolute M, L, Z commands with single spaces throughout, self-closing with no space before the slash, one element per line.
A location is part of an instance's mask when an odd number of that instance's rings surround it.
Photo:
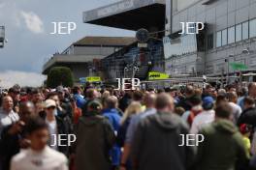
<path fill-rule="evenodd" d="M 48 146 L 43 152 L 21 151 L 11 161 L 11 170 L 68 170 L 67 158 Z"/>

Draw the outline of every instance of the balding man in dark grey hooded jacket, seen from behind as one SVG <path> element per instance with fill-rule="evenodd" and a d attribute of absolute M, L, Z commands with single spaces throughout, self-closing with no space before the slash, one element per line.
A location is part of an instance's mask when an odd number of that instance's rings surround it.
<path fill-rule="evenodd" d="M 134 170 L 184 170 L 192 166 L 195 147 L 178 146 L 180 134 L 188 134 L 188 126 L 174 111 L 174 99 L 160 94 L 155 103 L 157 114 L 147 116 L 136 130 L 131 156 Z"/>

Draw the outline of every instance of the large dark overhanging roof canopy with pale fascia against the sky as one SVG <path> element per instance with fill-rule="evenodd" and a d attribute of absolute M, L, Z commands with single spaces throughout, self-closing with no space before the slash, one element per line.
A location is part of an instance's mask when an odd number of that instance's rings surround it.
<path fill-rule="evenodd" d="M 83 13 L 83 22 L 137 31 L 164 30 L 165 0 L 122 0 Z"/>

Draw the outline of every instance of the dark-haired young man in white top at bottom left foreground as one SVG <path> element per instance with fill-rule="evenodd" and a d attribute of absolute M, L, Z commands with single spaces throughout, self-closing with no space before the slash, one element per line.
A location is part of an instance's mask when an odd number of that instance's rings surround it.
<path fill-rule="evenodd" d="M 67 158 L 48 147 L 48 125 L 44 120 L 30 119 L 26 131 L 30 148 L 12 158 L 11 170 L 68 170 Z"/>

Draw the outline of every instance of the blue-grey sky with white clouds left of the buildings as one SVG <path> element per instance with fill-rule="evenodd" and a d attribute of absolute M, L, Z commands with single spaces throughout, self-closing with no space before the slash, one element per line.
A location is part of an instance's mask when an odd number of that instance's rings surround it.
<path fill-rule="evenodd" d="M 134 36 L 131 31 L 82 23 L 82 12 L 116 1 L 0 0 L 0 25 L 6 27 L 8 40 L 0 48 L 0 87 L 41 85 L 48 58 L 85 36 Z M 77 29 L 70 35 L 52 35 L 51 22 L 76 22 Z"/>

